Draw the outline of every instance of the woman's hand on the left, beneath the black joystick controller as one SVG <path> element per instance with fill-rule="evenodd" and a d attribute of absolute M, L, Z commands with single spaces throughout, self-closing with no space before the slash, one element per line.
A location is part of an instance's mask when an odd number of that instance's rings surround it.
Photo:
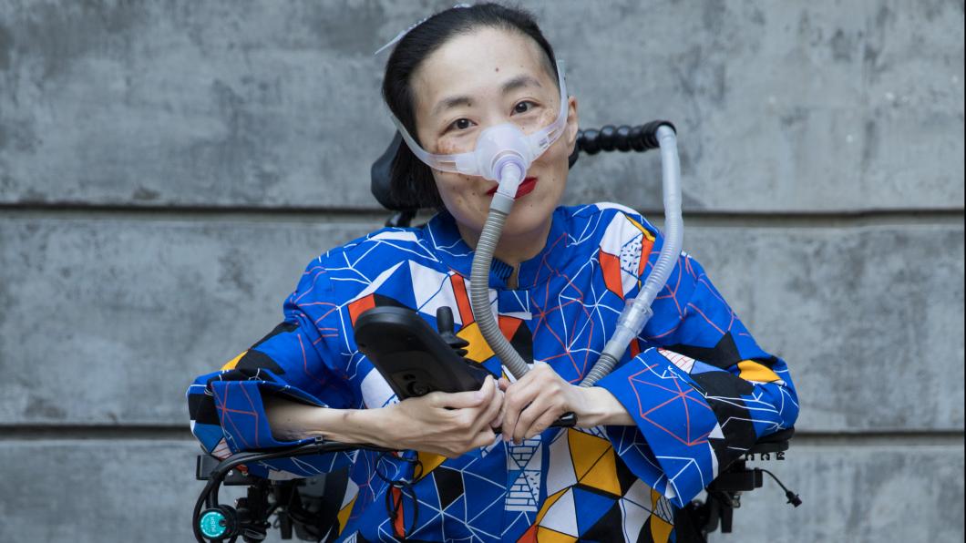
<path fill-rule="evenodd" d="M 461 456 L 474 448 L 493 443 L 494 428 L 502 418 L 503 392 L 487 376 L 479 390 L 430 392 L 407 398 L 372 412 L 378 421 L 375 443 L 395 449 L 414 449 Z"/>

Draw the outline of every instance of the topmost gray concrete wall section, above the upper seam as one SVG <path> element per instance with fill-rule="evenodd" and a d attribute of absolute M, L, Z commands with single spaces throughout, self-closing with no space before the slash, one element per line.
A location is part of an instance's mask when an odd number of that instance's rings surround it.
<path fill-rule="evenodd" d="M 677 123 L 688 209 L 961 207 L 961 1 L 526 4 L 583 126 Z M 0 202 L 372 207 L 372 52 L 429 11 L 6 0 Z M 639 157 L 607 162 L 576 200 L 654 205 Z"/>

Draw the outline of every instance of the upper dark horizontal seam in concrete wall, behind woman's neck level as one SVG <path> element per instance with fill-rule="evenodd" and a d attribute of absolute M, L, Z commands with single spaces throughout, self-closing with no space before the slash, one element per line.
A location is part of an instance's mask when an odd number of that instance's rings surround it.
<path fill-rule="evenodd" d="M 642 210 L 660 222 L 663 210 Z M 32 219 L 111 219 L 172 221 L 243 221 L 383 224 L 391 212 L 375 208 L 292 208 L 222 206 L 103 206 L 84 204 L 0 203 L 6 217 Z M 685 223 L 703 227 L 844 228 L 862 226 L 963 225 L 962 209 L 902 209 L 855 212 L 716 212 L 686 211 Z M 424 221 L 420 214 L 414 222 Z"/>

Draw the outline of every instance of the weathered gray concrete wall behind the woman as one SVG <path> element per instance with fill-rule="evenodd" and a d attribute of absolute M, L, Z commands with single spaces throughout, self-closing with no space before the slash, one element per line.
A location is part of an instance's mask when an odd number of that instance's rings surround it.
<path fill-rule="evenodd" d="M 189 539 L 186 384 L 384 220 L 372 51 L 446 5 L 400 4 L 0 2 L 0 540 Z M 687 249 L 799 386 L 805 504 L 714 540 L 962 541 L 963 2 L 525 4 L 582 126 L 678 125 Z"/>

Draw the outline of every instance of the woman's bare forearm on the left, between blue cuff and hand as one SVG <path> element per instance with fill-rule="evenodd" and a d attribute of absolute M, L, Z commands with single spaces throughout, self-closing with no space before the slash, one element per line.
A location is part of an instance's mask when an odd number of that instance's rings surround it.
<path fill-rule="evenodd" d="M 388 444 L 386 410 L 320 408 L 276 397 L 263 402 L 277 440 L 323 437 L 340 443 Z"/>

